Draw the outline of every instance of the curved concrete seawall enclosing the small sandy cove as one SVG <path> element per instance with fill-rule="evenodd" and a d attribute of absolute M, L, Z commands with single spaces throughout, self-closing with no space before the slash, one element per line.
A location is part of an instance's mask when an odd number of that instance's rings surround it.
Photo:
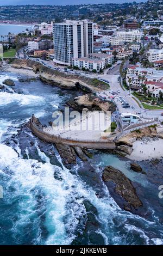
<path fill-rule="evenodd" d="M 70 146 L 85 147 L 87 149 L 115 149 L 116 145 L 114 141 L 108 141 L 106 139 L 101 139 L 100 141 L 89 141 L 89 140 L 70 140 L 56 135 L 52 135 L 42 130 L 42 125 L 34 114 L 29 121 L 29 126 L 35 136 L 39 137 L 43 141 L 51 143 L 62 143 Z"/>

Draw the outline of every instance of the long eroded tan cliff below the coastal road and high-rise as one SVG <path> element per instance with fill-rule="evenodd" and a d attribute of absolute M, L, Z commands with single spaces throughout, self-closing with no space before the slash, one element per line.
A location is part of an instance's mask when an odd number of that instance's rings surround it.
<path fill-rule="evenodd" d="M 12 68 L 32 70 L 39 74 L 40 79 L 48 84 L 64 89 L 74 89 L 80 87 L 86 92 L 98 92 L 109 88 L 109 85 L 96 78 L 89 78 L 75 74 L 66 74 L 42 65 L 39 62 L 29 59 L 15 59 L 11 63 Z"/>

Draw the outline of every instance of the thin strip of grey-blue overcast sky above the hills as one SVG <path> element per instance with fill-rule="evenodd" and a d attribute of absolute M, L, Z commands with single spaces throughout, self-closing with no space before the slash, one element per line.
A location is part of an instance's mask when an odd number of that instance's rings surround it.
<path fill-rule="evenodd" d="M 137 0 L 136 2 L 145 2 L 146 0 Z M 24 4 L 96 4 L 96 3 L 126 3 L 134 0 L 0 0 L 0 5 L 24 5 Z"/>

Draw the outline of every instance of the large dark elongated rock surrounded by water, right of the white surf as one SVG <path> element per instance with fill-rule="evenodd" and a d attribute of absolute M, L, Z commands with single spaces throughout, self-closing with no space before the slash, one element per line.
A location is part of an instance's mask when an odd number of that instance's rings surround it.
<path fill-rule="evenodd" d="M 123 204 L 124 209 L 130 209 L 131 206 L 135 209 L 142 206 L 142 202 L 136 194 L 136 190 L 131 183 L 131 181 L 122 173 L 120 170 L 115 169 L 112 166 L 107 166 L 104 169 L 103 180 L 106 182 L 106 185 L 109 187 L 109 182 L 112 181 L 115 184 L 115 192 L 121 196 L 126 203 Z"/>

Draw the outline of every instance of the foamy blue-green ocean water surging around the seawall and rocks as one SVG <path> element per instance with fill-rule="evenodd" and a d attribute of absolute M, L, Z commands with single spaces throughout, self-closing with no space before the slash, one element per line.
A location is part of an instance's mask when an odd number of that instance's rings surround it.
<path fill-rule="evenodd" d="M 0 73 L 0 83 L 6 78 L 15 81 L 15 88 L 0 92 L 0 185 L 4 198 L 0 199 L 1 245 L 162 245 L 163 229 L 154 205 L 150 220 L 122 210 L 101 181 L 102 197 L 96 196 L 96 186 L 89 176 L 79 172 L 79 162 L 71 171 L 64 167 L 57 150 L 51 157 L 41 147 L 39 139 L 27 129 L 24 143 L 12 144 L 21 125 L 35 113 L 43 124 L 52 120 L 52 112 L 78 95 L 43 84 L 41 81 L 21 83 L 17 75 Z M 35 150 L 28 142 L 33 140 Z M 8 142 L 8 143 L 7 143 Z M 27 147 L 26 147 L 27 143 Z M 26 156 L 22 148 L 25 147 Z M 45 143 L 45 148 L 49 147 Z M 37 156 L 37 157 L 36 157 Z M 95 151 L 90 164 L 96 169 L 111 164 L 134 181 L 129 162 L 117 156 Z M 141 176 L 142 178 L 142 176 Z M 144 179 L 143 186 L 147 186 Z M 89 204 L 89 209 L 86 203 Z M 85 224 L 90 218 L 96 222 Z M 88 235 L 89 234 L 89 235 Z"/>

